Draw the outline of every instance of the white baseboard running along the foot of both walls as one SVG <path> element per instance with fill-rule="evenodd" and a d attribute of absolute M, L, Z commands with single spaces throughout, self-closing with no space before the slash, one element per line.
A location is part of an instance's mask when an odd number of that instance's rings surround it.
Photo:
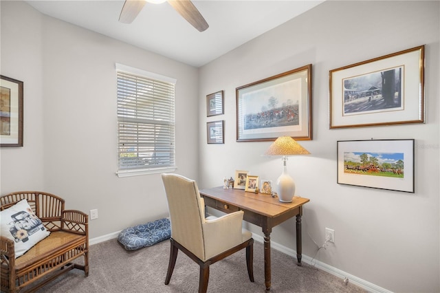
<path fill-rule="evenodd" d="M 113 232 L 107 235 L 102 235 L 100 237 L 89 239 L 89 245 L 98 244 L 100 242 L 104 242 L 107 240 L 118 238 L 120 231 Z M 264 243 L 264 239 L 262 236 L 257 235 L 255 233 L 252 233 L 252 237 L 255 241 L 259 241 L 260 243 Z M 274 248 L 280 252 L 283 252 L 291 257 L 294 257 L 296 259 L 296 250 L 293 250 L 291 248 L 287 248 L 286 246 L 282 246 L 281 244 L 278 244 L 274 241 L 270 242 L 270 247 Z M 345 278 L 349 279 L 350 283 L 353 283 L 354 285 L 357 285 L 359 287 L 364 288 L 368 292 L 377 292 L 377 293 L 392 293 L 391 291 L 388 291 L 382 287 L 379 287 L 373 283 L 367 282 L 363 279 L 358 278 L 357 276 L 353 276 L 352 274 L 348 274 L 347 272 L 344 272 L 342 270 L 339 270 L 337 268 L 333 268 L 331 265 L 327 265 L 327 263 L 322 263 L 321 261 L 317 261 L 316 259 L 312 259 L 311 257 L 303 254 L 303 258 L 301 261 L 309 264 L 314 265 L 315 268 L 318 268 L 320 270 L 323 270 L 325 272 L 328 272 L 330 274 L 333 274 L 333 276 L 337 276 L 341 279 L 341 282 L 344 281 Z M 313 261 L 313 263 L 312 263 Z"/>

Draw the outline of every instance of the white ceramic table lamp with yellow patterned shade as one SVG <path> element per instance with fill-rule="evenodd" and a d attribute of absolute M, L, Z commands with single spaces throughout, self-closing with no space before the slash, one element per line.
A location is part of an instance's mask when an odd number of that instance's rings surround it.
<path fill-rule="evenodd" d="M 280 136 L 269 146 L 269 149 L 265 151 L 265 155 L 283 156 L 284 169 L 276 181 L 276 192 L 278 193 L 280 202 L 292 202 L 296 186 L 292 177 L 287 173 L 287 157 L 289 155 L 310 155 L 309 151 L 304 149 L 303 146 L 300 146 L 300 144 L 290 136 Z"/>

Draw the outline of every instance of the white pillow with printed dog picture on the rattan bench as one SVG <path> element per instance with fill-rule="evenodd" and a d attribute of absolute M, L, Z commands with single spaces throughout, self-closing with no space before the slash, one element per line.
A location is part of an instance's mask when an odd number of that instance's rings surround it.
<path fill-rule="evenodd" d="M 50 235 L 26 199 L 1 211 L 1 235 L 15 241 L 15 258 Z"/>

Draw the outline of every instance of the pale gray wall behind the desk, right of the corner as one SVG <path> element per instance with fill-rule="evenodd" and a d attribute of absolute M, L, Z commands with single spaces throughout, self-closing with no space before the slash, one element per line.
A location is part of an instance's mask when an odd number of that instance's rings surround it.
<path fill-rule="evenodd" d="M 439 1 L 326 1 L 201 67 L 199 104 L 224 90 L 225 114 L 199 109 L 199 186 L 219 186 L 235 170 L 276 181 L 281 160 L 261 156 L 270 142 L 236 142 L 235 89 L 312 63 L 314 139 L 300 142 L 311 155 L 287 162 L 297 195 L 311 199 L 303 254 L 314 257 L 333 228 L 336 243 L 319 261 L 387 290 L 439 292 L 439 32 Z M 329 129 L 329 70 L 423 44 L 426 124 Z M 225 144 L 206 144 L 213 120 L 225 120 Z M 371 138 L 415 138 L 414 194 L 336 183 L 336 141 Z M 272 241 L 296 249 L 294 227 L 277 226 Z"/>

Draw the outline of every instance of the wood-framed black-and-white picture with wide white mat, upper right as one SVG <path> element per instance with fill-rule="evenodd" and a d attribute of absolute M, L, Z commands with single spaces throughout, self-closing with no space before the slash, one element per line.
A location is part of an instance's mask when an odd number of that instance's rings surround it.
<path fill-rule="evenodd" d="M 425 46 L 330 71 L 330 128 L 425 122 Z"/>

